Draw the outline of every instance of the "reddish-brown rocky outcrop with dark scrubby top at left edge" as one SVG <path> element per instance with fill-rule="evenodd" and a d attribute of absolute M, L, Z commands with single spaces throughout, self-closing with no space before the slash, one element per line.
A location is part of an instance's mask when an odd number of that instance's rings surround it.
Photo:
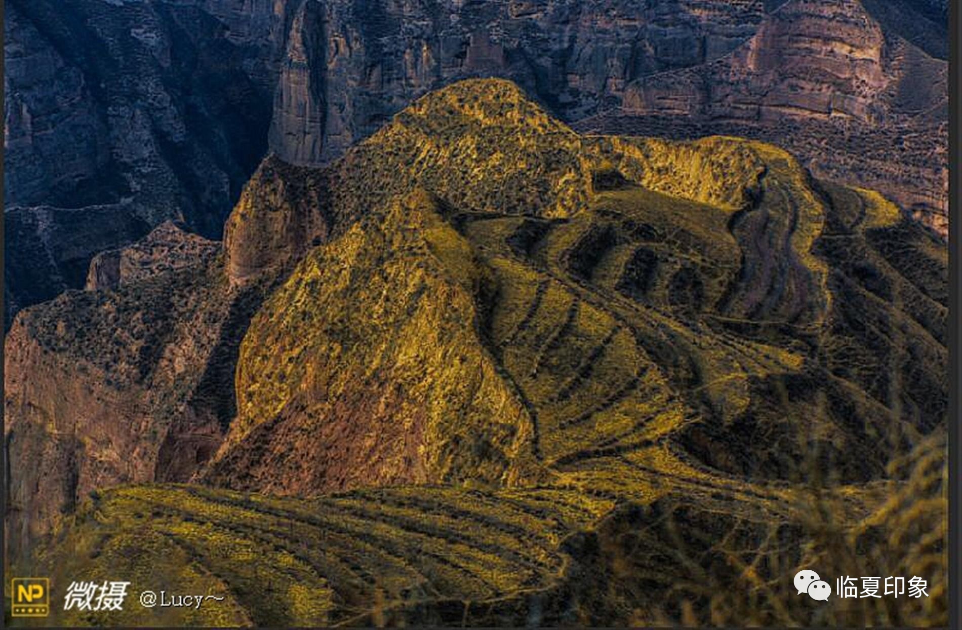
<path fill-rule="evenodd" d="M 132 276 L 122 265 L 116 290 L 67 291 L 16 316 L 4 371 L 14 553 L 89 491 L 186 481 L 215 451 L 234 415 L 231 356 L 254 307 L 228 293 L 202 249 L 165 270 Z"/>

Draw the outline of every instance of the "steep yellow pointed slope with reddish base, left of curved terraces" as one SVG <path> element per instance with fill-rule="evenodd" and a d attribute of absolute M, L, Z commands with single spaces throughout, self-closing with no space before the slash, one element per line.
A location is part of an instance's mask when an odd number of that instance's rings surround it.
<path fill-rule="evenodd" d="M 296 494 L 530 475 L 532 418 L 475 334 L 489 279 L 471 256 L 426 194 L 312 251 L 251 322 L 205 479 Z"/>

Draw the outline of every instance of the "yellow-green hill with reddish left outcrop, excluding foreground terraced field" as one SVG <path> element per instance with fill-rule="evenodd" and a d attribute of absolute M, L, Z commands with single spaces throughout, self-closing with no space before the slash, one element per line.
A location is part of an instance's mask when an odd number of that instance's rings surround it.
<path fill-rule="evenodd" d="M 945 427 L 944 244 L 756 141 L 579 136 L 471 80 L 333 164 L 268 158 L 228 226 L 17 315 L 14 554 L 127 482 L 768 510 L 811 449 L 874 483 Z"/>

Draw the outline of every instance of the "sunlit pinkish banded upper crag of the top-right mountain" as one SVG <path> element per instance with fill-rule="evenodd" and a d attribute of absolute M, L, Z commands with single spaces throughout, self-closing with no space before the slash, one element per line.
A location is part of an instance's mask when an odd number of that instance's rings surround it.
<path fill-rule="evenodd" d="M 881 115 L 877 96 L 887 83 L 882 44 L 881 28 L 857 2 L 790 2 L 730 56 L 707 68 L 633 84 L 624 108 L 762 121 L 846 116 L 870 122 Z"/>

